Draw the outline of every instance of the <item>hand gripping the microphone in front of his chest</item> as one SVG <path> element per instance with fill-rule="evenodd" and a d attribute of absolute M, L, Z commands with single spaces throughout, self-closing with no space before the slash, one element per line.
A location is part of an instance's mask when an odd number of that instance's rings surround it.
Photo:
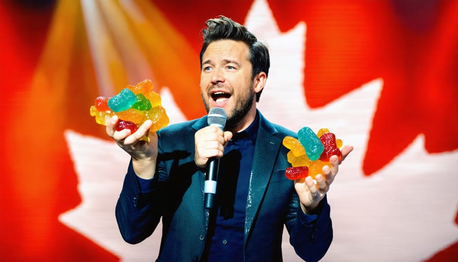
<path fill-rule="evenodd" d="M 223 132 L 216 126 L 206 126 L 194 135 L 195 164 L 204 168 L 211 158 L 221 158 L 224 155 L 224 146 L 232 138 L 231 132 Z"/>

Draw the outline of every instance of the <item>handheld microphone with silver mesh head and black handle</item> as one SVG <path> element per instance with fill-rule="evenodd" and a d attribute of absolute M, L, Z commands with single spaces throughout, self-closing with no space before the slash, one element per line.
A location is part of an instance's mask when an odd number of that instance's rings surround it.
<path fill-rule="evenodd" d="M 214 125 L 224 130 L 226 125 L 226 112 L 222 108 L 212 108 L 208 112 L 208 125 Z M 213 199 L 216 194 L 216 181 L 218 180 L 219 159 L 212 158 L 208 163 L 208 170 L 205 175 L 204 184 L 204 206 L 205 208 L 213 208 Z"/>

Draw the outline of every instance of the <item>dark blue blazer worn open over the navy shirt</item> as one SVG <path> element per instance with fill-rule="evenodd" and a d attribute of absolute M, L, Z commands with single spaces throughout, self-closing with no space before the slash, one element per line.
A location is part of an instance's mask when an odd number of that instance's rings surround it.
<path fill-rule="evenodd" d="M 311 223 L 304 219 L 307 215 L 299 207 L 294 182 L 284 175 L 291 165 L 282 140 L 297 134 L 258 113 L 260 124 L 246 205 L 245 261 L 282 261 L 283 225 L 296 253 L 306 261 L 317 261 L 332 241 L 329 205 L 323 199 L 314 215 L 318 218 Z M 116 206 L 118 225 L 124 240 L 135 244 L 149 237 L 162 218 L 157 261 L 198 261 L 204 252 L 209 213 L 204 208 L 205 173 L 194 163 L 194 134 L 207 125 L 207 117 L 203 117 L 159 130 L 152 191 L 140 191 L 129 165 Z"/>

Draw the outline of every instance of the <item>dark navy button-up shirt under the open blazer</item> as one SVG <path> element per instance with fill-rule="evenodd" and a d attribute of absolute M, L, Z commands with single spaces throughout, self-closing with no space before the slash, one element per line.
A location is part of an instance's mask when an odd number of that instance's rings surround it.
<path fill-rule="evenodd" d="M 216 208 L 207 233 L 208 261 L 243 261 L 246 200 L 259 117 L 234 134 L 219 162 Z M 206 254 L 203 260 L 205 261 Z"/>

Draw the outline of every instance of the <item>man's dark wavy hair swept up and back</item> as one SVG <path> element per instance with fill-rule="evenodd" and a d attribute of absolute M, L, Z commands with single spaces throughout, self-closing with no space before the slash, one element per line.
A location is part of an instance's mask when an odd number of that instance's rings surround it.
<path fill-rule="evenodd" d="M 264 43 L 258 41 L 257 38 L 246 29 L 246 27 L 235 22 L 231 18 L 227 18 L 222 15 L 207 20 L 205 24 L 206 27 L 202 30 L 202 36 L 204 39 L 200 54 L 201 70 L 202 56 L 204 55 L 205 50 L 207 50 L 208 45 L 213 41 L 227 39 L 242 41 L 248 45 L 250 50 L 250 57 L 248 60 L 252 66 L 251 77 L 254 78 L 254 76 L 260 72 L 265 72 L 266 76 L 269 74 L 269 49 Z M 256 102 L 259 101 L 261 92 L 256 93 Z"/>

